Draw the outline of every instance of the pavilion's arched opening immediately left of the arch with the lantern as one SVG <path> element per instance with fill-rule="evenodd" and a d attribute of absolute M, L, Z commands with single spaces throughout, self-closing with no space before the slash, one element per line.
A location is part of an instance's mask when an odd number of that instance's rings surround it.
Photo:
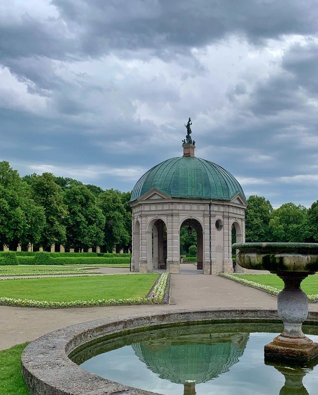
<path fill-rule="evenodd" d="M 147 269 L 166 269 L 167 226 L 161 217 L 151 219 L 147 226 Z"/>

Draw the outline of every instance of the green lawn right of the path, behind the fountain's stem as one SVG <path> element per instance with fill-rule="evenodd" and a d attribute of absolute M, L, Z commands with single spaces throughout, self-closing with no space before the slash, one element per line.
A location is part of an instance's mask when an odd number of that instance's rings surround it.
<path fill-rule="evenodd" d="M 253 281 L 258 284 L 269 285 L 271 287 L 282 290 L 284 287 L 284 282 L 276 274 L 239 274 L 235 275 L 239 278 L 244 278 L 245 280 Z M 312 275 L 308 276 L 302 282 L 302 290 L 306 292 L 307 295 L 317 295 L 318 294 L 318 276 Z"/>

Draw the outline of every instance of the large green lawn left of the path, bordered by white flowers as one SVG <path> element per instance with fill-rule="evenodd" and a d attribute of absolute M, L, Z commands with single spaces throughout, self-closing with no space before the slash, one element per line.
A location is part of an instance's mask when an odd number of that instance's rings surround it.
<path fill-rule="evenodd" d="M 6 280 L 0 282 L 0 297 L 52 302 L 144 298 L 158 277 L 154 273 Z"/>

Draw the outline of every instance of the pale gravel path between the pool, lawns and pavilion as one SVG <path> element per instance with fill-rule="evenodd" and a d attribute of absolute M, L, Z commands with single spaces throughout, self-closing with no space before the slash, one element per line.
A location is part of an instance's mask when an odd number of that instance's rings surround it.
<path fill-rule="evenodd" d="M 110 268 L 103 269 L 109 270 Z M 187 275 L 171 276 L 170 305 L 54 310 L 0 306 L 0 349 L 34 340 L 47 332 L 67 325 L 96 318 L 153 314 L 159 311 L 186 308 L 276 309 L 277 307 L 276 298 L 222 277 L 200 276 L 197 274 L 196 266 L 192 264 L 182 264 L 181 271 Z M 310 310 L 318 311 L 318 304 L 311 304 Z"/>

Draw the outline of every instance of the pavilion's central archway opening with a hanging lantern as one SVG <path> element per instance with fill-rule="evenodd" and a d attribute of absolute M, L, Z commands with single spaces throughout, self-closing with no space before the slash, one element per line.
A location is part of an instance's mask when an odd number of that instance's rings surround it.
<path fill-rule="evenodd" d="M 197 269 L 203 269 L 203 230 L 199 221 L 188 218 L 180 227 L 180 255 L 185 260 L 196 260 Z"/>

